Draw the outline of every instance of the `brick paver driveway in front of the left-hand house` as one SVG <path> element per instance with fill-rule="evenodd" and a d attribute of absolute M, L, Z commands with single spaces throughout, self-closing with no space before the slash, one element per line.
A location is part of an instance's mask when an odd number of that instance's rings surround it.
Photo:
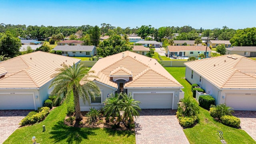
<path fill-rule="evenodd" d="M 0 110 L 0 144 L 2 144 L 17 128 L 20 121 L 31 110 Z"/>

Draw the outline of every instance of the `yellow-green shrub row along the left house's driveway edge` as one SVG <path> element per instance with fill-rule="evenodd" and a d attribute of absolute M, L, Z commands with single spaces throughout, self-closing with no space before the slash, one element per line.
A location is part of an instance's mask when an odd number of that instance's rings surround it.
<path fill-rule="evenodd" d="M 50 112 L 50 108 L 42 107 L 38 112 L 30 112 L 28 115 L 23 118 L 20 122 L 20 125 L 25 126 L 28 124 L 35 124 L 36 122 L 42 121 Z"/>

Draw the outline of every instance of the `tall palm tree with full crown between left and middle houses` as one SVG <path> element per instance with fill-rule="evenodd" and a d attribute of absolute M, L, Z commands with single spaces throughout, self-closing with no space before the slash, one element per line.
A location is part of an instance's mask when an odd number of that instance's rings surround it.
<path fill-rule="evenodd" d="M 86 101 L 90 102 L 90 96 L 94 98 L 95 95 L 100 94 L 98 86 L 91 81 L 91 78 L 95 77 L 92 73 L 94 71 L 89 71 L 81 64 L 73 64 L 73 66 L 64 65 L 58 69 L 57 74 L 52 75 L 55 78 L 49 88 L 54 88 L 52 90 L 53 95 L 61 96 L 65 94 L 63 99 L 69 100 L 70 94 L 73 92 L 76 112 L 75 126 L 79 126 L 79 122 L 82 120 L 79 98 L 82 98 L 85 103 Z"/>

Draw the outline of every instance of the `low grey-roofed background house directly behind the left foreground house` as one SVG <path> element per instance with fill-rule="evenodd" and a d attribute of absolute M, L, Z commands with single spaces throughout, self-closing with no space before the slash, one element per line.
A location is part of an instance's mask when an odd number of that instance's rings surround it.
<path fill-rule="evenodd" d="M 91 57 L 96 54 L 96 46 L 56 46 L 53 50 L 62 51 L 63 56 Z"/>

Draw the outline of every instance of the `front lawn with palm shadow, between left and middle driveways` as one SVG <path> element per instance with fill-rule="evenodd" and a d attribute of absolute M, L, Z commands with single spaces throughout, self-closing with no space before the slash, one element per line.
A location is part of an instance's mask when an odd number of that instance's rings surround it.
<path fill-rule="evenodd" d="M 32 144 L 33 136 L 40 144 L 135 144 L 135 132 L 68 127 L 64 124 L 65 116 L 65 105 L 59 106 L 44 121 L 16 130 L 4 144 Z M 43 125 L 45 132 L 42 132 Z"/>

